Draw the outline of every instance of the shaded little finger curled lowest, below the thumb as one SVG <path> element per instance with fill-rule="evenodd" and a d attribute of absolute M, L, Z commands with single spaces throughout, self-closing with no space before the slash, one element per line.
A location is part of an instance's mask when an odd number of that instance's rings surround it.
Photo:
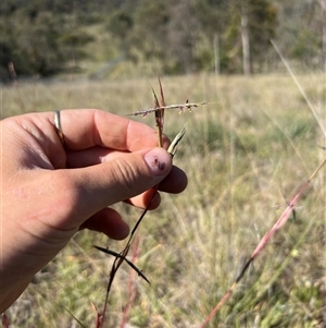
<path fill-rule="evenodd" d="M 123 240 L 129 234 L 129 226 L 113 208 L 103 208 L 98 211 L 80 226 L 82 229 L 103 232 L 115 240 Z"/>

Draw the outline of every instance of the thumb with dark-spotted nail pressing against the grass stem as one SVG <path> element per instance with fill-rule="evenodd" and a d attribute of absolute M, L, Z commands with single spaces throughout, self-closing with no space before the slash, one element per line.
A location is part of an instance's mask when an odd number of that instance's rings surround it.
<path fill-rule="evenodd" d="M 78 193 L 75 198 L 78 212 L 87 219 L 106 206 L 139 195 L 160 183 L 171 169 L 170 154 L 158 147 L 122 154 L 101 165 L 70 170 Z"/>

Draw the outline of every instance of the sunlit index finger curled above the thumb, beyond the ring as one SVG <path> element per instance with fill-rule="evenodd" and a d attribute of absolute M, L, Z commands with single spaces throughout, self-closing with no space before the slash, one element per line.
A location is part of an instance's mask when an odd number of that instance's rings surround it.
<path fill-rule="evenodd" d="M 154 129 L 98 109 L 62 110 L 61 129 L 65 145 L 73 150 L 93 146 L 136 151 L 158 146 Z M 163 145 L 168 146 L 165 137 Z"/>

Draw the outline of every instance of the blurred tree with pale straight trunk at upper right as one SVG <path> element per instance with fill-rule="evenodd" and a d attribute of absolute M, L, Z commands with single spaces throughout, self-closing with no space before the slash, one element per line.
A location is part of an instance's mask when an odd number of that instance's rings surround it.
<path fill-rule="evenodd" d="M 260 70 L 276 31 L 276 7 L 267 0 L 203 0 L 196 2 L 202 32 L 218 35 L 224 72 Z M 212 42 L 211 42 L 212 44 Z"/>

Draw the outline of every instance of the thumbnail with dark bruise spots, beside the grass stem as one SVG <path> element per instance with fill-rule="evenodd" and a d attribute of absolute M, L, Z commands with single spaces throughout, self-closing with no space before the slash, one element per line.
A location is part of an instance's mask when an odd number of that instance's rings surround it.
<path fill-rule="evenodd" d="M 163 148 L 154 148 L 143 156 L 154 177 L 166 174 L 171 170 L 171 156 Z"/>

